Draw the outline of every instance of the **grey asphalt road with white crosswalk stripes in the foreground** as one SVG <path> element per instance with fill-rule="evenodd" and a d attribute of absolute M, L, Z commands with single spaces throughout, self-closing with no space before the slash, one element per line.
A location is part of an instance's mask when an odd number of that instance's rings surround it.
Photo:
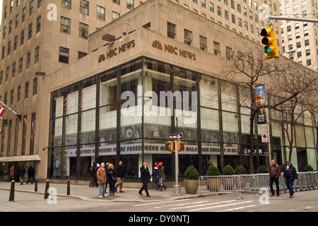
<path fill-rule="evenodd" d="M 255 194 L 243 194 L 243 199 L 237 195 L 205 196 L 186 198 L 172 201 L 155 201 L 147 203 L 112 203 L 113 211 L 120 212 L 169 212 L 169 213 L 194 213 L 194 212 L 317 212 L 318 191 L 302 191 L 289 198 L 288 194 L 279 197 L 269 197 L 268 203 L 264 198 Z M 107 212 L 105 206 L 96 208 L 83 208 L 76 211 Z"/>

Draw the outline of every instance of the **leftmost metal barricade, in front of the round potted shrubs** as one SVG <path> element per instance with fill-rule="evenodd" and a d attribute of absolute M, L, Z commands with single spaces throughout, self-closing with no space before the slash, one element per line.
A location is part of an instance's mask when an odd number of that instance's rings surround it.
<path fill-rule="evenodd" d="M 241 177 L 239 175 L 232 176 L 200 176 L 199 177 L 199 194 L 240 194 L 241 196 Z"/>

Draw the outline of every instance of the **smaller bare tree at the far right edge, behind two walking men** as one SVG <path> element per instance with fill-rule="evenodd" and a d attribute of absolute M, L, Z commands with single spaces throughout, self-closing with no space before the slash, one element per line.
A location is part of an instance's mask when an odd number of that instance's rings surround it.
<path fill-rule="evenodd" d="M 276 106 L 273 102 L 271 107 L 283 113 L 283 129 L 290 150 L 288 160 L 291 160 L 295 142 L 295 125 L 303 119 L 304 112 L 315 109 L 314 105 L 317 105 L 314 102 L 308 103 L 307 100 L 310 99 L 312 92 L 317 92 L 318 74 L 305 66 L 289 61 L 281 62 L 280 66 L 283 71 L 273 73 L 271 93 L 285 101 Z M 308 107 L 304 107 L 306 102 Z"/>

